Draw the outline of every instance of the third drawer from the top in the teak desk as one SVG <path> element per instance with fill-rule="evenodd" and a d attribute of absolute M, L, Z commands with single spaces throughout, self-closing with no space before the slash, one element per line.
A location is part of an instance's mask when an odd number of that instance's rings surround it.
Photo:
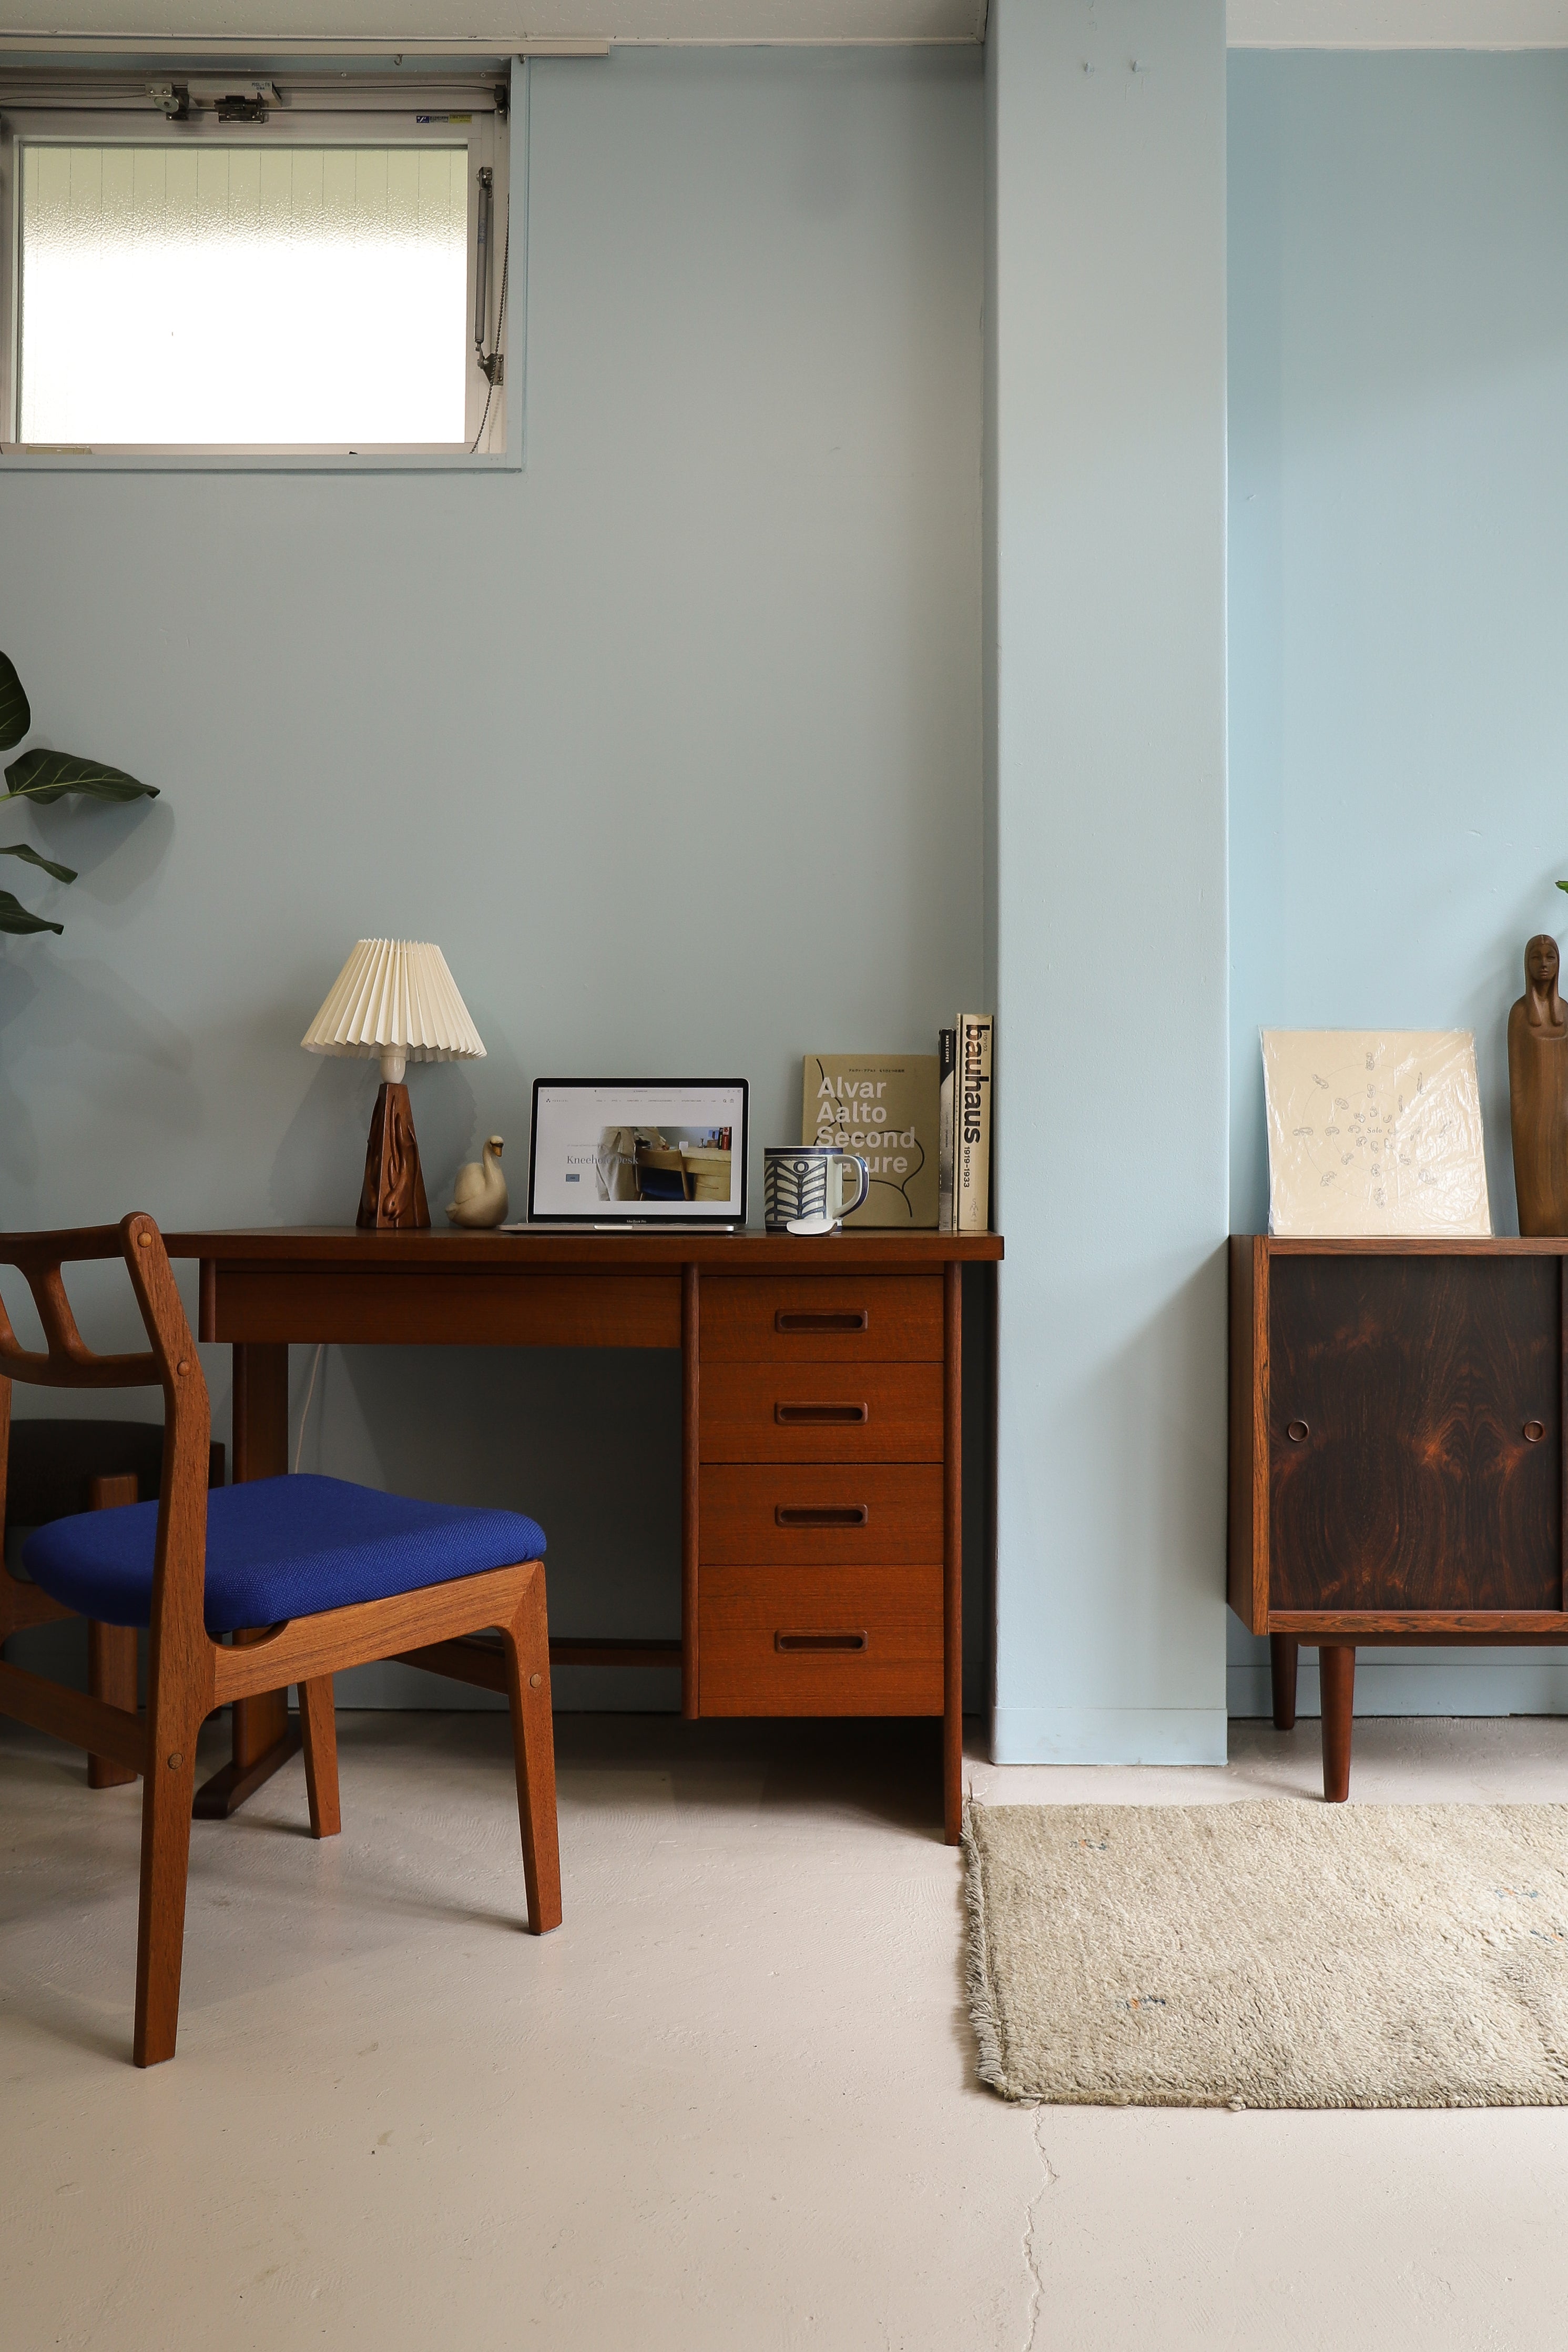
<path fill-rule="evenodd" d="M 698 1559 L 792 1566 L 943 1557 L 943 1465 L 708 1465 Z"/>

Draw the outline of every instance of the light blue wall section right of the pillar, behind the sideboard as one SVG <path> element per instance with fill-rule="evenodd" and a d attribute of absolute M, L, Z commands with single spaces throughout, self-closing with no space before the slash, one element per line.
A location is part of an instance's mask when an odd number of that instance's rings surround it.
<path fill-rule="evenodd" d="M 1568 59 L 1229 59 L 1232 1223 L 1260 1023 L 1505 1023 L 1568 931 Z M 1265 1712 L 1232 1625 L 1232 1708 Z M 1302 1696 L 1314 1705 L 1305 1677 Z M 1368 1661 L 1378 1712 L 1568 1708 L 1556 1653 Z"/>

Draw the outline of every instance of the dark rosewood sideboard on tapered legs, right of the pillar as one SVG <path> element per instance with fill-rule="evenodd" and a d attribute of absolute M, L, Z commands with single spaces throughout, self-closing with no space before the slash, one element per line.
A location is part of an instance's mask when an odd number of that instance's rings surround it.
<path fill-rule="evenodd" d="M 1568 1644 L 1568 1240 L 1229 1244 L 1229 1606 L 1274 1722 L 1316 1642 L 1324 1795 L 1356 1649 Z"/>

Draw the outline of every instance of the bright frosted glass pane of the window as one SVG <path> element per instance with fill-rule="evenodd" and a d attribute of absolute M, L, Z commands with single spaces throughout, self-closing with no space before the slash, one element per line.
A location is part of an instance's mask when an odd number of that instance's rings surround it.
<path fill-rule="evenodd" d="M 461 442 L 468 148 L 24 146 L 24 442 Z"/>

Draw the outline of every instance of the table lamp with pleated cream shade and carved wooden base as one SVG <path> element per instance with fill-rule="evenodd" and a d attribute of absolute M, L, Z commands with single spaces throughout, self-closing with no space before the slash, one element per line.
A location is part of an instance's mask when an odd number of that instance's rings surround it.
<path fill-rule="evenodd" d="M 442 950 L 418 938 L 362 938 L 299 1042 L 306 1054 L 381 1056 L 355 1223 L 378 1230 L 428 1225 L 402 1073 L 411 1061 L 473 1061 L 484 1054 Z"/>

